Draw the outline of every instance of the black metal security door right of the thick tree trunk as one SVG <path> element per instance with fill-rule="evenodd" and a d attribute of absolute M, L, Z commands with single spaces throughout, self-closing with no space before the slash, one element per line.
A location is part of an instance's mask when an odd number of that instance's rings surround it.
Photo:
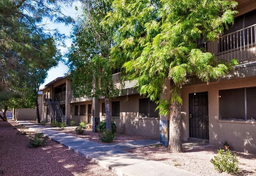
<path fill-rule="evenodd" d="M 209 140 L 208 92 L 189 94 L 189 137 Z"/>

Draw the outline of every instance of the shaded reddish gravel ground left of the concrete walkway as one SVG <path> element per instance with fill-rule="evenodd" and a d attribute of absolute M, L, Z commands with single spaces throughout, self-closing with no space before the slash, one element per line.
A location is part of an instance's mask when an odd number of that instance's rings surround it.
<path fill-rule="evenodd" d="M 49 139 L 47 146 L 28 148 L 28 137 L 34 132 L 22 135 L 20 128 L 14 121 L 0 120 L 1 176 L 116 175 Z"/>

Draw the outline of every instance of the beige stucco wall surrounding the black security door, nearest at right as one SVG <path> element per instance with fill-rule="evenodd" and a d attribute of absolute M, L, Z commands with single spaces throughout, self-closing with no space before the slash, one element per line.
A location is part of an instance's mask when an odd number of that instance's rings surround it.
<path fill-rule="evenodd" d="M 256 76 L 182 88 L 182 140 L 189 138 L 189 93 L 208 92 L 209 142 L 221 146 L 228 140 L 231 148 L 256 153 L 256 121 L 219 120 L 219 90 L 256 86 Z"/>

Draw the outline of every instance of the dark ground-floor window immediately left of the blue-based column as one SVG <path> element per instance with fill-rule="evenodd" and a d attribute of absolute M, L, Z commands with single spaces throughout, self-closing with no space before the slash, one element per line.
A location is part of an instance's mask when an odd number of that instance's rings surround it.
<path fill-rule="evenodd" d="M 139 99 L 139 116 L 140 117 L 158 117 L 159 110 L 156 110 L 157 104 L 149 98 Z"/>

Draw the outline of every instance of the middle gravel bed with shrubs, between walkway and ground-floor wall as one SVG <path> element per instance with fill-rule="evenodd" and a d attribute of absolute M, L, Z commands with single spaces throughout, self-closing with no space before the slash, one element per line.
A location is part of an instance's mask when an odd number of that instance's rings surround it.
<path fill-rule="evenodd" d="M 95 143 L 105 144 L 100 141 L 98 133 L 92 132 L 92 129 L 86 129 L 85 132 L 83 132 L 83 134 L 77 134 L 74 129 L 75 129 L 75 127 L 65 128 L 64 130 L 57 130 L 57 131 L 67 133 L 70 135 L 74 135 L 76 137 L 81 137 L 83 139 L 87 139 L 87 140 L 93 141 Z M 113 140 L 113 143 L 125 143 L 125 142 L 129 142 L 129 141 L 138 141 L 138 140 L 143 140 L 143 139 L 154 139 L 154 138 L 147 137 L 147 136 L 136 136 L 136 135 L 127 135 L 127 134 L 122 134 L 122 133 L 115 133 L 115 139 Z"/>

